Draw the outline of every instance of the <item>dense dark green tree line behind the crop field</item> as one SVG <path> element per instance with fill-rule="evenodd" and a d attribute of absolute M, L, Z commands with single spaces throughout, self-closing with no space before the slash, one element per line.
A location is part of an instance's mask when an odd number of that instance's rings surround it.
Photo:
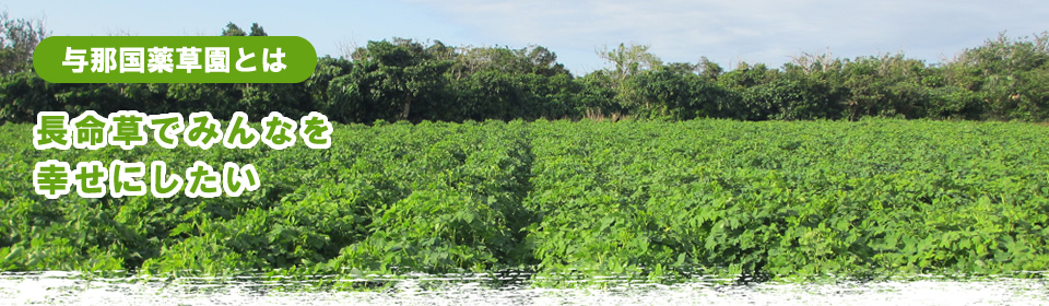
<path fill-rule="evenodd" d="M 706 58 L 662 62 L 646 46 L 600 52 L 611 68 L 575 76 L 542 47 L 452 47 L 438 40 L 368 42 L 318 60 L 294 84 L 55 84 L 30 60 L 47 32 L 2 16 L 0 122 L 35 120 L 42 110 L 212 111 L 250 118 L 319 110 L 340 122 L 638 118 L 687 120 L 899 117 L 975 120 L 1049 119 L 1049 35 L 1004 34 L 929 64 L 901 54 L 834 58 L 803 54 L 780 68 Z M 229 23 L 222 35 L 262 36 Z"/>

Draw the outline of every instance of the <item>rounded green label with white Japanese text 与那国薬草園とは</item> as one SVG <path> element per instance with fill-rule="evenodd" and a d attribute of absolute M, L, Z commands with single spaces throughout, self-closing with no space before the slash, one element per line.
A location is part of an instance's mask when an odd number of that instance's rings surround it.
<path fill-rule="evenodd" d="M 297 83 L 316 66 L 298 36 L 51 36 L 33 52 L 52 83 Z"/>

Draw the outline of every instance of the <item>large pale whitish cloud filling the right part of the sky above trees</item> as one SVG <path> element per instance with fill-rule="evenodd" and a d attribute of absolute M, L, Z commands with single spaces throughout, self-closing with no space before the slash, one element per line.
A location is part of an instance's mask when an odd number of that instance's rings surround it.
<path fill-rule="evenodd" d="M 1049 5 L 1036 1 L 406 1 L 468 28 L 472 42 L 547 46 L 575 70 L 600 64 L 596 47 L 630 42 L 665 61 L 707 56 L 722 66 L 775 67 L 828 47 L 847 58 L 905 51 L 934 62 L 1001 31 L 1049 30 Z"/>

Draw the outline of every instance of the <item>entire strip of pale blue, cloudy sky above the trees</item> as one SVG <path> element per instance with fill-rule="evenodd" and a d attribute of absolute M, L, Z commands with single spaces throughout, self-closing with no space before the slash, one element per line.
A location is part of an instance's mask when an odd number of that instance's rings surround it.
<path fill-rule="evenodd" d="M 0 2 L 13 17 L 46 19 L 54 35 L 217 35 L 252 22 L 294 35 L 319 55 L 390 37 L 447 45 L 541 45 L 581 74 L 606 67 L 596 50 L 650 45 L 663 61 L 700 56 L 779 67 L 801 52 L 854 58 L 904 51 L 940 62 L 998 33 L 1049 31 L 1041 1 L 68 1 Z"/>

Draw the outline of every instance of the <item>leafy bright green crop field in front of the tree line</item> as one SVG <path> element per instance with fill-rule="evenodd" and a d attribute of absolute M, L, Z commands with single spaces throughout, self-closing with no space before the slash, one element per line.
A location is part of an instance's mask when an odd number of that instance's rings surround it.
<path fill-rule="evenodd" d="M 1049 129 L 1028 123 L 335 126 L 329 150 L 46 150 L 0 127 L 0 270 L 540 275 L 1049 267 Z M 36 162 L 252 164 L 240 197 L 48 200 Z M 145 178 L 146 184 L 150 179 Z"/>

